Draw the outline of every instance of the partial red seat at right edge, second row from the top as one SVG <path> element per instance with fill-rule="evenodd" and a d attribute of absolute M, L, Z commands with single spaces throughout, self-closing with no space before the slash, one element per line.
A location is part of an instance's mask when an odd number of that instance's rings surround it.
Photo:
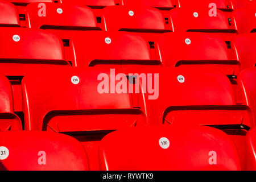
<path fill-rule="evenodd" d="M 233 11 L 232 18 L 238 34 L 256 32 L 256 8 Z"/>

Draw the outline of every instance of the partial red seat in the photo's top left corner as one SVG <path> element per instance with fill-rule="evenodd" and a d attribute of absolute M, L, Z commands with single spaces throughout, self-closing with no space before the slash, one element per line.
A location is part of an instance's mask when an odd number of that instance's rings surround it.
<path fill-rule="evenodd" d="M 18 10 L 10 2 L 0 1 L 0 26 L 19 27 Z"/>

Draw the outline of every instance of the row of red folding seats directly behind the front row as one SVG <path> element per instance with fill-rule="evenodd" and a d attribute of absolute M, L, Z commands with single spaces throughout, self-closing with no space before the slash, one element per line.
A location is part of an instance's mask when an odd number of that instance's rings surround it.
<path fill-rule="evenodd" d="M 245 136 L 255 125 L 256 69 L 238 76 L 240 104 L 228 77 L 217 71 L 177 68 L 122 73 L 118 69 L 53 68 L 22 80 L 24 121 L 13 109 L 10 81 L 2 76 L 1 131 L 64 133 L 88 148 L 98 169 L 98 145 L 106 134 L 147 125 L 206 125 L 225 131 L 245 167 Z M 182 130 L 182 129 L 181 129 Z"/>

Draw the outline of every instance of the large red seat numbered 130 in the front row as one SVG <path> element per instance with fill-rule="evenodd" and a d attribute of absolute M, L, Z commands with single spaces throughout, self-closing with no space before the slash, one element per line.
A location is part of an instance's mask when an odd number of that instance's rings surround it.
<path fill-rule="evenodd" d="M 163 125 L 106 135 L 100 143 L 100 167 L 109 171 L 241 169 L 236 147 L 222 131 Z"/>

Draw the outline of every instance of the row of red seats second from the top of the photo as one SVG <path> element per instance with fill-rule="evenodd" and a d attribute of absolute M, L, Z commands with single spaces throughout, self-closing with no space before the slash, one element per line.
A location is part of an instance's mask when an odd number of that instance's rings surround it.
<path fill-rule="evenodd" d="M 108 6 L 94 10 L 71 3 L 30 3 L 19 14 L 12 3 L 1 1 L 1 26 L 56 30 L 104 30 L 162 33 L 168 31 L 212 32 L 230 40 L 233 35 L 254 32 L 255 8 L 239 9 L 231 15 L 208 7 L 184 7 L 162 12 L 154 7 Z M 118 14 L 118 16 L 116 16 Z M 20 16 L 20 17 L 19 17 Z M 21 19 L 21 22 L 20 22 Z M 118 23 L 117 23 L 118 22 Z"/>

